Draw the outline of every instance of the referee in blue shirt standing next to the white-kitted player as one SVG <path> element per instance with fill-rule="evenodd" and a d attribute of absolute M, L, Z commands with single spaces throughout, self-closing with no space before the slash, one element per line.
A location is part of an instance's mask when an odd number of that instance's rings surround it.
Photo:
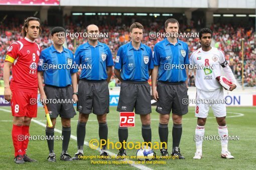
<path fill-rule="evenodd" d="M 180 153 L 179 144 L 182 134 L 182 115 L 188 112 L 188 103 L 183 103 L 183 98 L 188 97 L 189 51 L 187 43 L 175 36 L 179 31 L 178 20 L 167 19 L 165 31 L 170 36 L 158 42 L 154 47 L 152 95 L 158 101 L 156 111 L 160 113 L 160 141 L 168 143 L 168 123 L 172 111 L 173 149 L 171 154 L 175 158 L 184 159 L 185 157 Z M 168 156 L 167 144 L 160 151 L 161 156 Z"/>

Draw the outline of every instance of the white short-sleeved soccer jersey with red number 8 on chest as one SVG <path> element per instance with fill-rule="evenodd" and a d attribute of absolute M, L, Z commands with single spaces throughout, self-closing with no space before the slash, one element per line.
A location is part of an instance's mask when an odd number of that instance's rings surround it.
<path fill-rule="evenodd" d="M 222 50 L 211 47 L 210 50 L 203 51 L 199 48 L 191 54 L 189 61 L 197 68 L 195 84 L 198 89 L 214 91 L 221 87 L 215 78 L 221 75 L 221 66 L 228 66 Z"/>

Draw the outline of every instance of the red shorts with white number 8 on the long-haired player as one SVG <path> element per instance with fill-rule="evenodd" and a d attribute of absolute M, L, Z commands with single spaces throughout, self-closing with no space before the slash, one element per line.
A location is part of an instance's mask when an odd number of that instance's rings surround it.
<path fill-rule="evenodd" d="M 37 94 L 24 91 L 12 91 L 12 93 L 13 116 L 37 117 Z"/>

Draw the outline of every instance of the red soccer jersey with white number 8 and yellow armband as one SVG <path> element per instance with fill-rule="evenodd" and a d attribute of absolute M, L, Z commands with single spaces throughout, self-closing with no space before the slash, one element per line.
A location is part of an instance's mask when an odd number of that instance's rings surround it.
<path fill-rule="evenodd" d="M 40 47 L 27 37 L 10 45 L 6 55 L 8 62 L 13 62 L 13 78 L 10 88 L 12 91 L 37 93 L 37 64 Z"/>

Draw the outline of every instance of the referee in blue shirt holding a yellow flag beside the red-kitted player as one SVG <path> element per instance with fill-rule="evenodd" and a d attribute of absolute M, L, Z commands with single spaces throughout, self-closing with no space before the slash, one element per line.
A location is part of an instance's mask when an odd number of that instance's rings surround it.
<path fill-rule="evenodd" d="M 62 122 L 62 152 L 61 160 L 70 161 L 67 153 L 71 135 L 70 119 L 76 115 L 73 103 L 77 102 L 77 79 L 74 55 L 71 50 L 63 46 L 65 29 L 54 27 L 51 30 L 53 45 L 41 52 L 38 62 L 38 86 L 40 99 L 46 103 L 53 127 L 46 126 L 46 136 L 49 148 L 48 161 L 56 161 L 54 153 L 54 127 L 58 115 Z M 43 86 L 43 78 L 45 86 Z M 71 85 L 72 84 L 72 85 Z"/>

